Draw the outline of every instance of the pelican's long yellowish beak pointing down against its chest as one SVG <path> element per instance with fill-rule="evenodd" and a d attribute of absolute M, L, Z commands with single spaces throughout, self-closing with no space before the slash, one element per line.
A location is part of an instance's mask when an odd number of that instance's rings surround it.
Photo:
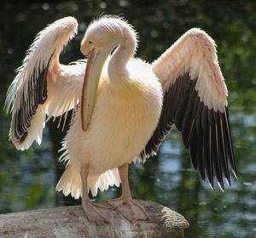
<path fill-rule="evenodd" d="M 81 98 L 81 121 L 84 131 L 86 131 L 90 123 L 96 102 L 96 90 L 102 75 L 102 68 L 110 52 L 111 48 L 102 48 L 98 51 L 93 48 L 88 54 Z"/>

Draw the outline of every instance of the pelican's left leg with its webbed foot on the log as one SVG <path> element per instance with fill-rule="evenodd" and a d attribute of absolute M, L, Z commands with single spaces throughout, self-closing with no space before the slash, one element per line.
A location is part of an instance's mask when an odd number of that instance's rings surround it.
<path fill-rule="evenodd" d="M 81 179 L 83 186 L 83 195 L 82 195 L 82 207 L 84 209 L 84 213 L 90 222 L 96 221 L 104 221 L 110 223 L 110 216 L 108 210 L 103 205 L 93 204 L 90 202 L 90 198 L 88 195 L 88 186 L 87 186 L 87 178 L 89 173 L 88 164 L 82 163 L 81 165 Z M 109 209 L 109 208 L 108 208 Z"/>

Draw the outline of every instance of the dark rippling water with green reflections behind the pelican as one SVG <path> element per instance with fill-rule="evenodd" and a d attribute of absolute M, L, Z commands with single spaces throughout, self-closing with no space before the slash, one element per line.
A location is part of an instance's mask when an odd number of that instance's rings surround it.
<path fill-rule="evenodd" d="M 135 1 L 134 1 L 135 2 Z M 235 2 L 235 1 L 234 1 Z M 189 164 L 180 135 L 173 130 L 159 156 L 131 166 L 136 198 L 157 201 L 189 220 L 186 237 L 256 237 L 256 3 L 253 1 L 55 1 L 1 2 L 0 107 L 36 33 L 54 20 L 73 15 L 79 36 L 69 44 L 62 63 L 81 59 L 79 43 L 90 20 L 99 14 L 122 14 L 140 35 L 137 56 L 156 59 L 184 31 L 201 27 L 218 45 L 218 59 L 229 88 L 230 122 L 239 180 L 224 192 L 202 183 Z M 57 150 L 65 132 L 49 122 L 39 147 L 15 150 L 8 140 L 10 116 L 0 111 L 0 212 L 78 203 L 55 192 L 63 166 Z M 113 188 L 96 201 L 117 196 Z"/>

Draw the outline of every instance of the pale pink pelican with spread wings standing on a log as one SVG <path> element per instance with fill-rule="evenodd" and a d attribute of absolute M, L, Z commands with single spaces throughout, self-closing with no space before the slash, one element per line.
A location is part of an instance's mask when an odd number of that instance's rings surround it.
<path fill-rule="evenodd" d="M 137 32 L 123 18 L 93 20 L 81 42 L 87 60 L 61 65 L 59 55 L 77 33 L 73 17 L 40 31 L 11 83 L 6 106 L 12 113 L 9 137 L 18 150 L 42 140 L 49 118 L 73 116 L 62 142 L 67 164 L 56 190 L 82 198 L 91 221 L 110 222 L 108 208 L 131 222 L 148 212 L 132 200 L 129 164 L 157 153 L 172 127 L 182 133 L 190 161 L 211 187 L 224 190 L 236 166 L 230 136 L 227 88 L 215 42 L 193 28 L 148 64 L 135 58 Z M 109 206 L 90 202 L 97 190 L 122 184 Z"/>

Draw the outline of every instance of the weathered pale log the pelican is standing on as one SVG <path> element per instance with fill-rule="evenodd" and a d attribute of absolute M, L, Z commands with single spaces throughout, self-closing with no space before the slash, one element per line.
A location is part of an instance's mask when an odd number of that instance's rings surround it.
<path fill-rule="evenodd" d="M 189 223 L 182 215 L 152 201 L 139 201 L 151 220 L 131 224 L 111 211 L 111 224 L 90 223 L 81 206 L 54 207 L 0 215 L 0 237 L 183 237 Z"/>

